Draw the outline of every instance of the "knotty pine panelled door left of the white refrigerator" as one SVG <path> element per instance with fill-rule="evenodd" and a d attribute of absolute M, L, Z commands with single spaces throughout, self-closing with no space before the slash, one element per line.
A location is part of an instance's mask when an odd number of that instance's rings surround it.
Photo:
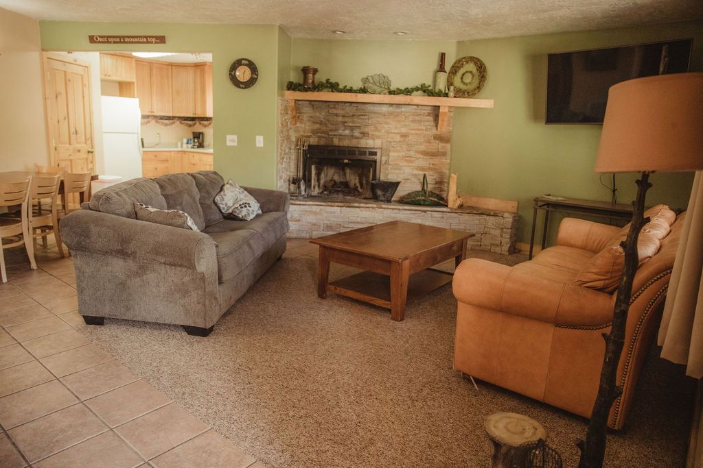
<path fill-rule="evenodd" d="M 51 166 L 95 173 L 89 64 L 44 53 L 44 101 Z"/>

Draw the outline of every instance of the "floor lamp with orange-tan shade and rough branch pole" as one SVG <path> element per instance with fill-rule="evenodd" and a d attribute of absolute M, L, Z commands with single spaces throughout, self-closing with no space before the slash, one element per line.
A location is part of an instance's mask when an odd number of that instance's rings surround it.
<path fill-rule="evenodd" d="M 595 171 L 641 173 L 633 201 L 630 230 L 621 243 L 625 265 L 617 290 L 610 334 L 604 334 L 605 356 L 586 440 L 579 441 L 579 468 L 601 467 L 605 456 L 607 417 L 621 394 L 617 366 L 624 346 L 632 283 L 638 266 L 637 239 L 645 194 L 654 171 L 703 169 L 703 73 L 648 76 L 610 88 Z M 703 227 L 702 227 L 703 229 Z"/>

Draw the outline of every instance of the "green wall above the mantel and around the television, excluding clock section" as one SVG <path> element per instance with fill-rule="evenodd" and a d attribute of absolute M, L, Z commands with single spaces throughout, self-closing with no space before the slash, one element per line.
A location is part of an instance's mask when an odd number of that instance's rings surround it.
<path fill-rule="evenodd" d="M 627 29 L 543 34 L 482 41 L 363 41 L 292 39 L 290 78 L 300 68 L 318 67 L 325 78 L 361 86 L 368 74 L 388 75 L 394 86 L 432 83 L 439 52 L 447 67 L 464 55 L 481 58 L 488 80 L 478 98 L 495 100 L 494 109 L 455 109 L 451 171 L 460 192 L 520 202 L 518 240 L 529 241 L 532 199 L 559 194 L 610 200 L 593 163 L 600 125 L 545 125 L 547 54 L 693 37 L 692 71 L 703 69 L 703 22 L 678 22 Z M 619 201 L 635 194 L 636 175 L 617 175 Z M 653 174 L 647 204 L 688 203 L 691 173 Z M 610 183 L 610 178 L 604 176 Z M 553 227 L 556 226 L 553 222 Z"/>

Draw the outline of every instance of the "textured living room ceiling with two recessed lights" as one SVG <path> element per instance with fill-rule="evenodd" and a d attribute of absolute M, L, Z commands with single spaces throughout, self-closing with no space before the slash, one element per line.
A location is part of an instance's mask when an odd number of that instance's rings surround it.
<path fill-rule="evenodd" d="M 703 18 L 702 0 L 0 0 L 39 20 L 281 25 L 293 37 L 482 39 Z"/>

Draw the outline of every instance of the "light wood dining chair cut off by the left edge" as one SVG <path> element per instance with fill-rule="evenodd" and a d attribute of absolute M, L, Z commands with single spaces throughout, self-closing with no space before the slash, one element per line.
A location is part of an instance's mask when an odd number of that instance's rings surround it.
<path fill-rule="evenodd" d="M 29 229 L 29 199 L 32 178 L 18 180 L 17 182 L 0 183 L 0 206 L 21 206 L 18 218 L 11 216 L 0 216 L 0 276 L 3 283 L 7 283 L 7 272 L 5 269 L 5 249 L 21 246 L 24 244 L 27 250 L 27 257 L 30 258 L 30 266 L 37 269 L 37 262 L 34 261 L 34 246 L 30 241 Z M 3 243 L 3 239 L 10 239 L 8 243 Z"/>

